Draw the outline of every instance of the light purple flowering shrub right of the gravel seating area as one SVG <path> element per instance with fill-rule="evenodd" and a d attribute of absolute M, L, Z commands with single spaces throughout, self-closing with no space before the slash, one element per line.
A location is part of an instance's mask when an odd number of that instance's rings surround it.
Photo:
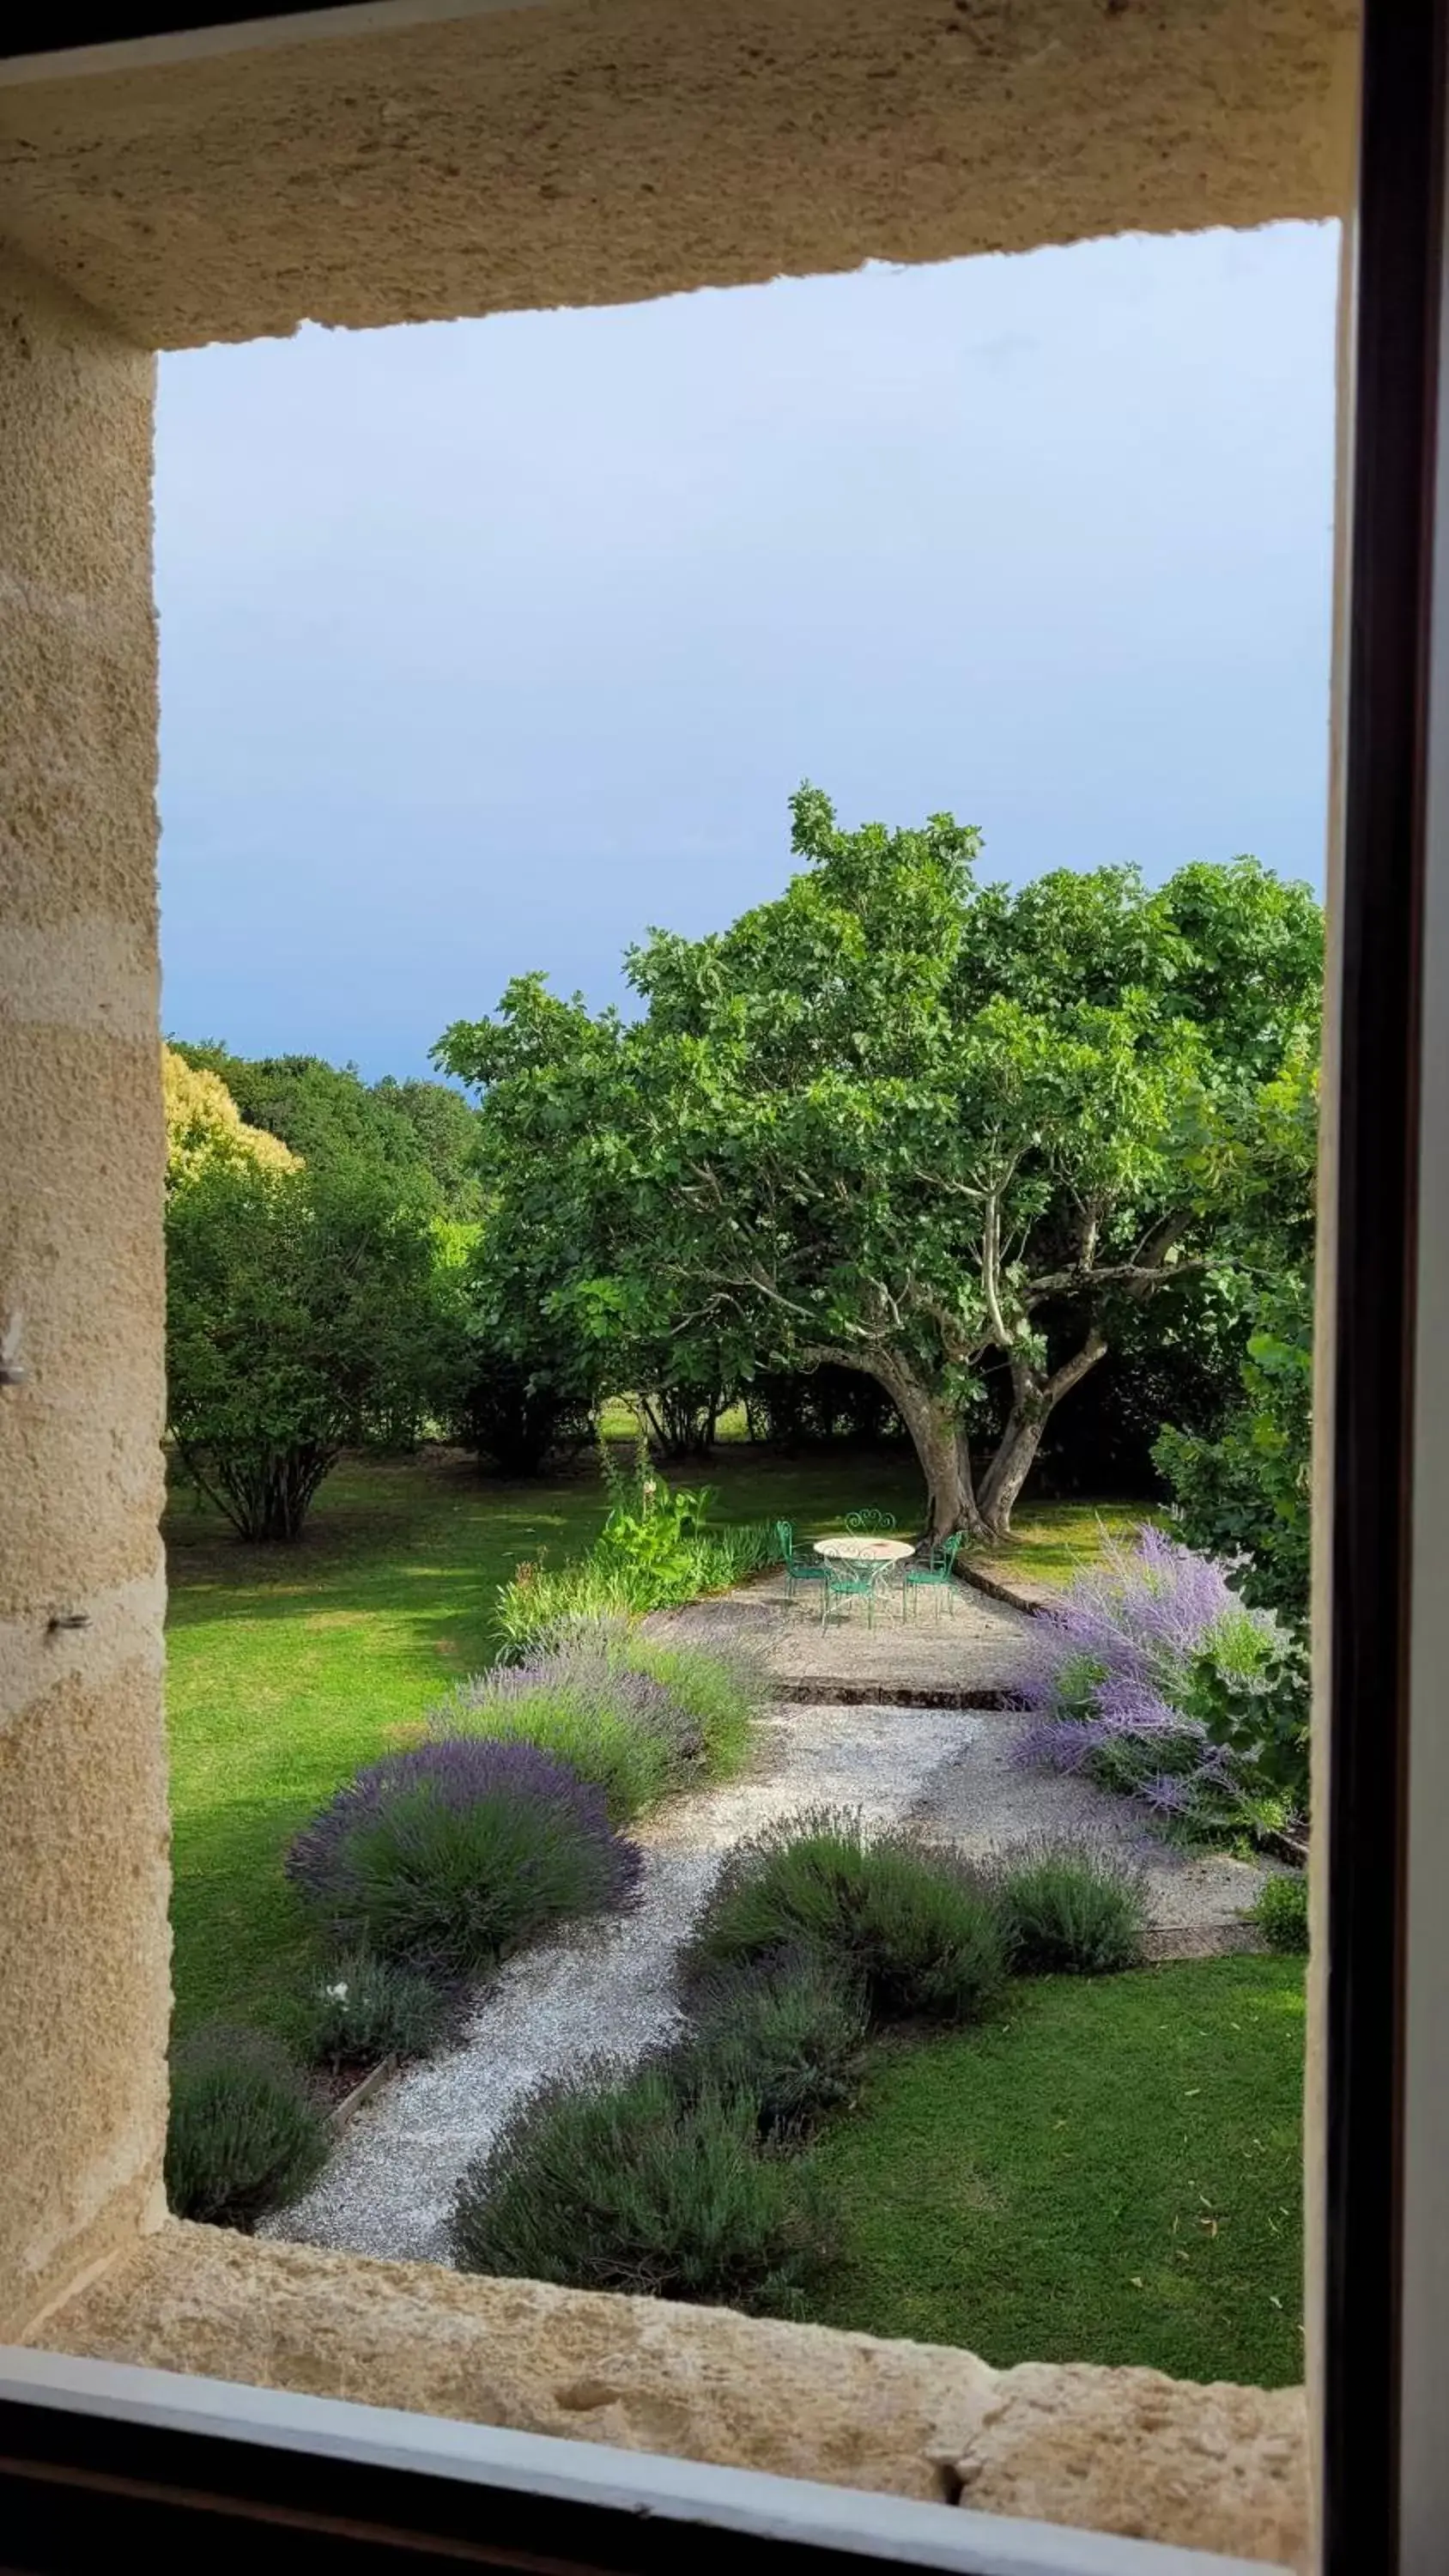
<path fill-rule="evenodd" d="M 1022 1641 L 1014 1682 L 1035 1723 L 1019 1759 L 1084 1772 L 1168 1834 L 1277 1832 L 1295 1801 L 1256 1757 L 1251 1713 L 1261 1705 L 1266 1741 L 1279 1654 L 1274 1618 L 1248 1610 L 1212 1556 L 1153 1525 L 1132 1548 L 1107 1540 L 1102 1566 Z M 1233 1744 L 1217 1739 L 1223 1703 Z"/>

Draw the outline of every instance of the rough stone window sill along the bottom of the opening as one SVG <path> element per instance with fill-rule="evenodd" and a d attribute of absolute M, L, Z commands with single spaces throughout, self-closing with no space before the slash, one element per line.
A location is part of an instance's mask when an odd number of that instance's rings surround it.
<path fill-rule="evenodd" d="M 1300 2388 L 1024 2362 L 172 2223 L 57 2352 L 1307 2566 Z"/>

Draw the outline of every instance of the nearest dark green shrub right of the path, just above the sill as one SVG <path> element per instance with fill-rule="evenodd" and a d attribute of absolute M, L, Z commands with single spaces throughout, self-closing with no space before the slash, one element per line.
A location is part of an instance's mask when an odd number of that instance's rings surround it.
<path fill-rule="evenodd" d="M 749 2097 L 685 2099 L 664 2066 L 543 2087 L 458 2187 L 463 2272 L 705 2306 L 798 2306 L 831 2239 L 806 2159 L 767 2156 Z"/>

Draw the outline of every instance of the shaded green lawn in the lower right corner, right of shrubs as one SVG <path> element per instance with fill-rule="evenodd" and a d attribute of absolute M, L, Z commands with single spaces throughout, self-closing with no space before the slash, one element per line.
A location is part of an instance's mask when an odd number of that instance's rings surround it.
<path fill-rule="evenodd" d="M 885 2050 L 818 2159 L 847 2262 L 811 2311 L 983 2360 L 1302 2378 L 1302 1960 L 1011 1989 Z"/>

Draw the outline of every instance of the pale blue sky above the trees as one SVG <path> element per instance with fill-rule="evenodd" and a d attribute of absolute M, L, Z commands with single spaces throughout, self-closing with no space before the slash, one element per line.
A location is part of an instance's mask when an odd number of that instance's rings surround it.
<path fill-rule="evenodd" d="M 422 1072 L 788 876 L 1320 881 L 1336 234 L 1086 242 L 162 358 L 165 1025 Z"/>

